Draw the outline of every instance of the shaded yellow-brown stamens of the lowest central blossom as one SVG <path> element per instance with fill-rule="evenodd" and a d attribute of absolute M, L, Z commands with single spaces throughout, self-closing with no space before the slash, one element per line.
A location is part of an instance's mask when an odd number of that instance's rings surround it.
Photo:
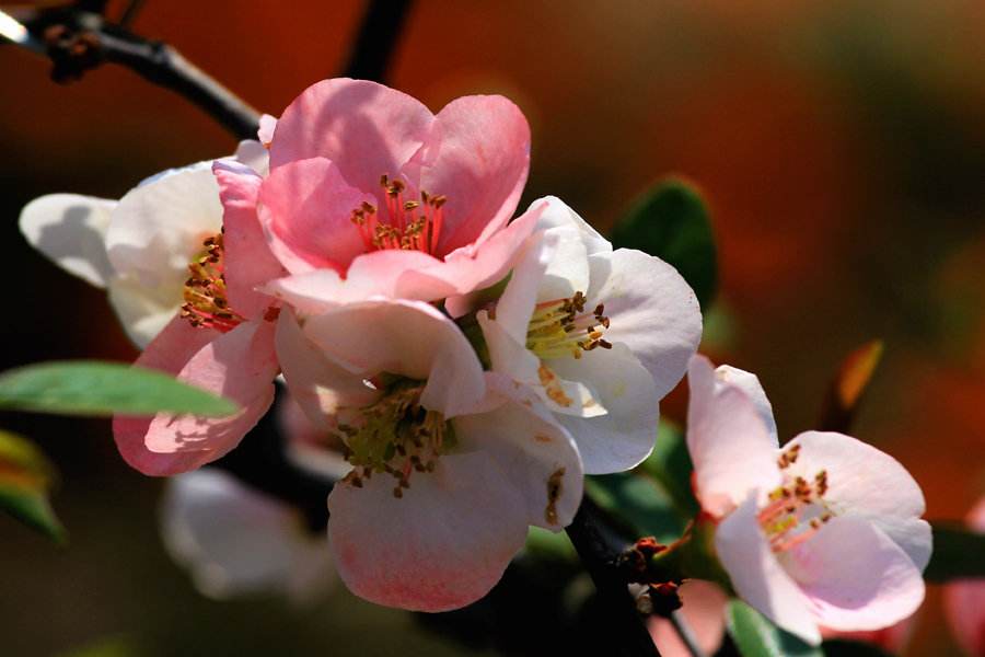
<path fill-rule="evenodd" d="M 451 423 L 420 405 L 424 384 L 399 379 L 374 403 L 358 410 L 351 424 L 339 424 L 346 460 L 354 465 L 343 480 L 362 487 L 362 480 L 385 472 L 397 480 L 394 497 L 403 497 L 414 472 L 432 472 L 438 457 L 455 447 Z"/>

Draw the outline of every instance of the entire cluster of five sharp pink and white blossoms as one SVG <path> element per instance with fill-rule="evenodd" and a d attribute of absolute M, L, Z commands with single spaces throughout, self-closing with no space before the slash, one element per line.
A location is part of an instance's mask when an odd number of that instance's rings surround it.
<path fill-rule="evenodd" d="M 140 472 L 221 458 L 282 378 L 316 429 L 309 447 L 345 459 L 328 550 L 363 598 L 440 611 L 483 597 L 530 526 L 571 522 L 586 474 L 647 458 L 659 402 L 690 366 L 696 493 L 735 591 L 810 641 L 819 624 L 867 630 L 912 612 L 929 533 L 902 466 L 841 435 L 780 450 L 755 378 L 695 357 L 702 315 L 674 267 L 613 249 L 556 197 L 518 214 L 529 165 L 530 128 L 507 99 L 436 115 L 336 79 L 264 117 L 233 157 L 118 201 L 45 196 L 21 227 L 107 289 L 143 348 L 138 366 L 241 406 L 116 417 Z M 210 476 L 185 488 L 222 515 L 225 483 Z M 208 525 L 185 499 L 173 505 Z M 285 522 L 250 508 L 257 525 Z M 258 573 L 311 546 L 268 548 Z"/>

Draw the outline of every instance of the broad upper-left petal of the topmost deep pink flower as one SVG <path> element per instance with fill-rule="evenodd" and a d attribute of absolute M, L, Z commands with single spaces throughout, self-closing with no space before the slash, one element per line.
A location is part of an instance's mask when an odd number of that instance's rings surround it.
<path fill-rule="evenodd" d="M 304 90 L 281 114 L 270 145 L 270 169 L 327 158 L 346 183 L 376 192 L 380 176 L 396 176 L 424 145 L 433 120 L 419 101 L 382 84 L 324 80 Z"/>

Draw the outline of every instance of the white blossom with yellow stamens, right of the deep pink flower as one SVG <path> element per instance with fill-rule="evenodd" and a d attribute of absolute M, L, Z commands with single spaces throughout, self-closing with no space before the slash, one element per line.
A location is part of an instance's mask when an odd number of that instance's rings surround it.
<path fill-rule="evenodd" d="M 672 266 L 614 251 L 560 199 L 535 205 L 544 239 L 477 313 L 491 368 L 537 392 L 589 474 L 628 470 L 652 450 L 658 402 L 697 349 L 697 299 Z"/>

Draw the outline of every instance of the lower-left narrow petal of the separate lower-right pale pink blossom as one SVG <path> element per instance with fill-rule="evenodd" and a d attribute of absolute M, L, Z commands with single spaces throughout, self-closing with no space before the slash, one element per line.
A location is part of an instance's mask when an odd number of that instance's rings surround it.
<path fill-rule="evenodd" d="M 787 632 L 818 645 L 821 633 L 809 601 L 769 549 L 757 510 L 756 495 L 752 494 L 718 525 L 718 558 L 743 600 Z"/>

